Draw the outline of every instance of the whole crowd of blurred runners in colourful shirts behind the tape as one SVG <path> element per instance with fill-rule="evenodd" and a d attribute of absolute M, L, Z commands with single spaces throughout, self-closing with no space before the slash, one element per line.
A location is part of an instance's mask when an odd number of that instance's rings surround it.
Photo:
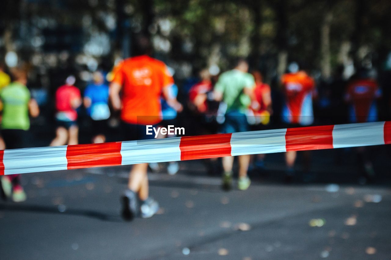
<path fill-rule="evenodd" d="M 117 64 L 109 77 L 102 72 L 93 73 L 91 83 L 81 90 L 75 86 L 76 78 L 66 78 L 55 94 L 56 137 L 50 146 L 79 143 L 78 109 L 84 106 L 90 121 L 91 142 L 105 142 L 110 135 L 108 120 L 119 113 L 122 140 L 153 139 L 146 134 L 146 125 L 181 125 L 187 121 L 193 134 L 218 134 L 247 132 L 267 128 L 273 120 L 286 128 L 314 124 L 314 103 L 319 96 L 317 84 L 308 72 L 300 70 L 296 62 L 289 64 L 287 73 L 278 80 L 278 89 L 283 95 L 283 104 L 274 104 L 276 95 L 263 81 L 262 73 L 249 68 L 246 59 L 237 59 L 232 69 L 218 77 L 207 68 L 199 71 L 199 81 L 185 91 L 184 100 L 178 102 L 180 89 L 174 83 L 174 71 L 166 64 L 151 57 L 152 48 L 146 37 L 140 36 L 133 46 L 133 57 Z M 360 69 L 341 91 L 350 123 L 376 121 L 377 100 L 382 96 L 380 87 L 368 69 Z M 11 78 L 0 71 L 1 149 L 24 148 L 29 140 L 26 132 L 30 128 L 30 117 L 39 114 L 37 102 L 31 97 L 27 83 L 27 69 L 11 69 Z M 106 80 L 109 78 L 109 80 Z M 183 93 L 182 93 L 183 94 Z M 335 102 L 334 102 L 335 103 Z M 334 104 L 333 103 L 333 104 Z M 338 106 L 337 105 L 337 106 Z M 341 112 L 341 111 L 340 111 Z M 180 120 L 180 113 L 186 117 Z M 338 116 L 342 116 L 343 112 Z M 336 115 L 330 115 L 335 117 Z M 276 118 L 276 119 L 273 119 Z M 341 123 L 335 122 L 335 123 Z M 172 137 L 159 135 L 158 138 Z M 357 149 L 362 158 L 363 171 L 373 178 L 372 163 L 363 148 Z M 309 171 L 309 155 L 305 171 Z M 238 189 L 245 191 L 250 186 L 249 168 L 262 169 L 265 155 L 240 155 L 238 158 Z M 285 153 L 285 181 L 291 182 L 295 174 L 296 151 Z M 205 159 L 208 173 L 222 174 L 222 188 L 233 187 L 233 157 Z M 127 189 L 122 196 L 125 219 L 135 216 L 151 217 L 158 208 L 158 202 L 149 196 L 147 170 L 158 170 L 160 165 L 135 164 L 129 173 Z M 167 172 L 178 172 L 178 162 L 169 162 Z M 1 178 L 2 192 L 15 202 L 24 201 L 26 194 L 20 185 L 19 175 Z"/>

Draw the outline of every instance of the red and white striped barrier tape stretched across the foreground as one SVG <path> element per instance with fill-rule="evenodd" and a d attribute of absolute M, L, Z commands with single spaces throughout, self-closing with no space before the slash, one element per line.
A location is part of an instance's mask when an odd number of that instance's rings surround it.
<path fill-rule="evenodd" d="M 0 175 L 391 144 L 391 121 L 0 151 Z"/>

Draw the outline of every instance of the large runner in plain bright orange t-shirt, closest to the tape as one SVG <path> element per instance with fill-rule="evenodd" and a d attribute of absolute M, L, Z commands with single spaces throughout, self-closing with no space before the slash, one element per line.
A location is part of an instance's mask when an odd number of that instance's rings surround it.
<path fill-rule="evenodd" d="M 182 105 L 170 96 L 169 86 L 174 80 L 167 66 L 148 56 L 151 45 L 147 37 L 138 37 L 134 46 L 136 57 L 122 61 L 114 69 L 109 91 L 113 108 L 121 110 L 126 141 L 153 139 L 154 135 L 146 134 L 146 125 L 155 125 L 161 121 L 162 94 L 171 107 L 182 110 Z M 122 197 L 122 216 L 126 220 L 132 220 L 138 212 L 143 218 L 151 217 L 159 209 L 158 203 L 148 194 L 147 169 L 147 163 L 135 164 L 131 169 L 128 189 Z M 142 201 L 140 207 L 137 195 Z"/>

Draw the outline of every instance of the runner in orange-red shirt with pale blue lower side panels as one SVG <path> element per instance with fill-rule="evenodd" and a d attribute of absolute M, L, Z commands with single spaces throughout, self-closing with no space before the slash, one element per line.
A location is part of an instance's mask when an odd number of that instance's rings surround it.
<path fill-rule="evenodd" d="M 305 71 L 299 71 L 299 65 L 292 62 L 288 66 L 288 73 L 281 78 L 283 91 L 285 93 L 285 106 L 282 110 L 282 120 L 287 127 L 308 126 L 314 123 L 314 112 L 312 98 L 316 94 L 314 80 Z M 294 176 L 294 164 L 296 151 L 287 151 L 285 161 L 287 169 L 285 181 L 291 182 Z M 309 170 L 309 153 L 304 153 L 305 166 Z"/>

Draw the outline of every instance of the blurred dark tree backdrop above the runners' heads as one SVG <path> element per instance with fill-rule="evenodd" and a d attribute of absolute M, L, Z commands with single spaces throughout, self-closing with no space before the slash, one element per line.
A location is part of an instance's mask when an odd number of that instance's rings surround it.
<path fill-rule="evenodd" d="M 38 68 L 36 84 L 50 87 L 48 71 L 88 80 L 111 69 L 143 32 L 179 79 L 205 66 L 224 71 L 240 56 L 269 82 L 290 61 L 328 80 L 339 66 L 346 77 L 358 66 L 382 68 L 390 14 L 389 0 L 5 0 L 0 58 L 16 53 Z"/>

